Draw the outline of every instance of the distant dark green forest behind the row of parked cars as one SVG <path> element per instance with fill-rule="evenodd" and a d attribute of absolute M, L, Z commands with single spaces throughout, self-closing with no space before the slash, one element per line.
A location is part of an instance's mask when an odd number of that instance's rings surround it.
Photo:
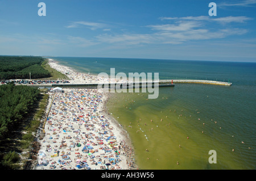
<path fill-rule="evenodd" d="M 31 79 L 51 77 L 41 65 L 42 57 L 0 56 L 0 79 Z"/>

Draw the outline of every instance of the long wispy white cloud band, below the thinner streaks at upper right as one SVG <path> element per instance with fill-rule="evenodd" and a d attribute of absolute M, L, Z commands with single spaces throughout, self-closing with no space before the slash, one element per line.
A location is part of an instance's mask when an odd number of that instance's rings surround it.
<path fill-rule="evenodd" d="M 144 45 L 144 44 L 181 44 L 187 41 L 222 39 L 232 35 L 243 35 L 247 30 L 239 28 L 225 28 L 220 30 L 207 30 L 206 28 L 186 29 L 185 31 L 169 30 L 159 28 L 151 34 L 123 34 L 123 35 L 98 35 L 98 43 L 119 45 Z"/>

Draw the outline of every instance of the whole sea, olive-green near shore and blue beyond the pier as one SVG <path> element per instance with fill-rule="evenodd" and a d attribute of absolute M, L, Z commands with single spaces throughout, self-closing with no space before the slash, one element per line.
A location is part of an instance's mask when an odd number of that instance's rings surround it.
<path fill-rule="evenodd" d="M 116 93 L 108 108 L 129 133 L 140 169 L 255 169 L 256 63 L 54 58 L 90 74 L 115 68 L 115 73 L 156 72 L 160 79 L 230 80 L 230 87 L 160 87 L 158 99 Z M 208 162 L 209 150 L 216 150 L 216 164 Z"/>

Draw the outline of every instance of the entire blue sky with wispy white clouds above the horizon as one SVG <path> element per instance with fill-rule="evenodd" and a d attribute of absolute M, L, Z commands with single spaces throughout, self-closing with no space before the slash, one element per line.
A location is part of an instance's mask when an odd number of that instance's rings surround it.
<path fill-rule="evenodd" d="M 256 0 L 0 0 L 0 54 L 256 62 Z"/>

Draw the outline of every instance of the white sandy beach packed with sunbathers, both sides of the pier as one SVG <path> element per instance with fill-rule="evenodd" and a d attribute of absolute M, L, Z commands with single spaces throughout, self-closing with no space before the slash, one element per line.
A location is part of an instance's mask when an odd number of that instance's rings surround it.
<path fill-rule="evenodd" d="M 49 65 L 74 82 L 106 81 L 77 73 L 49 59 Z M 108 93 L 98 89 L 48 92 L 49 112 L 36 170 L 137 169 L 134 151 L 122 126 L 105 108 Z"/>

